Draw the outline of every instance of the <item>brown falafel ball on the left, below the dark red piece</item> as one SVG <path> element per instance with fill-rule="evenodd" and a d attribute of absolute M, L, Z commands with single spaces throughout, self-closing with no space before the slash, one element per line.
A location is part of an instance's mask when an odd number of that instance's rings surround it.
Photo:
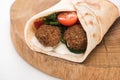
<path fill-rule="evenodd" d="M 61 31 L 57 26 L 42 25 L 35 33 L 35 36 L 42 45 L 53 47 L 60 42 Z"/>

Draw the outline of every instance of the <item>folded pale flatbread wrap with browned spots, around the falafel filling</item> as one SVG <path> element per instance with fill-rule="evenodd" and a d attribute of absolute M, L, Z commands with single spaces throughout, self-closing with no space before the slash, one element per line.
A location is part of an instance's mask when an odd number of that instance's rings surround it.
<path fill-rule="evenodd" d="M 56 47 L 44 47 L 35 37 L 33 23 L 36 19 L 62 11 L 77 12 L 79 21 L 87 36 L 87 48 L 85 53 L 74 54 L 61 42 Z M 24 30 L 25 41 L 33 51 L 81 63 L 101 42 L 105 33 L 118 16 L 116 6 L 107 0 L 61 0 L 53 7 L 34 15 L 27 21 Z"/>

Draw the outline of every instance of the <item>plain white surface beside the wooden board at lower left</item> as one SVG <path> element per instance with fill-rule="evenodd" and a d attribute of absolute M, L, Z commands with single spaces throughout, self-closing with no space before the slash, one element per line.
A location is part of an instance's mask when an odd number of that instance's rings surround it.
<path fill-rule="evenodd" d="M 0 80 L 58 80 L 30 66 L 14 49 L 9 16 L 13 1 L 0 1 Z"/>

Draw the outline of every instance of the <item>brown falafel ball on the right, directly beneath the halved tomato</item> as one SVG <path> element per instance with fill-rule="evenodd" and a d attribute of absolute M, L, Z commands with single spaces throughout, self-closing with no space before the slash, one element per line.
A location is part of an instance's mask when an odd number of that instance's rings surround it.
<path fill-rule="evenodd" d="M 64 39 L 70 49 L 84 50 L 87 47 L 86 33 L 80 24 L 68 28 L 64 33 Z"/>

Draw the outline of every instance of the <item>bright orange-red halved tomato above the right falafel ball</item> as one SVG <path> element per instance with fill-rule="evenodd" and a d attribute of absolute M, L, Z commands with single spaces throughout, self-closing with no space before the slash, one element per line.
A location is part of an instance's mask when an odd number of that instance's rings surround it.
<path fill-rule="evenodd" d="M 77 22 L 78 17 L 76 12 L 62 12 L 58 14 L 57 19 L 62 25 L 69 27 Z"/>

